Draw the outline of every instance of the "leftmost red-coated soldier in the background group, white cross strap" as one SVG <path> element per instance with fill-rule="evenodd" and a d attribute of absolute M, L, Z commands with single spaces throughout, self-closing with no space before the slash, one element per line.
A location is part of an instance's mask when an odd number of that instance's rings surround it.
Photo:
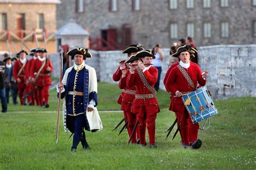
<path fill-rule="evenodd" d="M 28 86 L 25 86 L 25 73 L 28 70 L 26 55 L 28 55 L 28 53 L 22 49 L 17 55 L 19 55 L 19 60 L 15 62 L 12 74 L 17 82 L 19 100 L 21 101 L 21 105 L 24 105 L 24 92 L 26 92 L 26 94 L 29 93 Z M 30 102 L 30 100 L 31 98 L 28 96 L 28 102 Z"/>

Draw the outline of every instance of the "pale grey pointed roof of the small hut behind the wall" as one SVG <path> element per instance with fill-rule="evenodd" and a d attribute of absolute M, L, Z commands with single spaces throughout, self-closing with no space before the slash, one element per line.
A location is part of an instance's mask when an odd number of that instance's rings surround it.
<path fill-rule="evenodd" d="M 78 25 L 75 19 L 70 19 L 68 23 L 63 25 L 55 36 L 87 36 L 89 33 Z"/>

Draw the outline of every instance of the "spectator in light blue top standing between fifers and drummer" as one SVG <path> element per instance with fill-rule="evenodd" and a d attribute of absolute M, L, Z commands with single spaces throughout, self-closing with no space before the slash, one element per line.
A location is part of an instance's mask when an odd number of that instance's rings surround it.
<path fill-rule="evenodd" d="M 158 78 L 157 78 L 157 83 L 154 85 L 154 89 L 158 91 L 159 89 L 159 82 L 160 82 L 160 75 L 162 72 L 162 62 L 164 60 L 163 52 L 161 52 L 160 49 L 161 45 L 156 44 L 153 47 L 154 55 L 156 56 L 156 59 L 152 60 L 153 66 L 158 69 Z"/>

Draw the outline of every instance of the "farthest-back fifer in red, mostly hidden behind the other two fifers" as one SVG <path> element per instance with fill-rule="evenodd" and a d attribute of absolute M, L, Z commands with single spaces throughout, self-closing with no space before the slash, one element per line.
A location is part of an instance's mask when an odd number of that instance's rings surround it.
<path fill-rule="evenodd" d="M 126 49 L 124 49 L 123 51 L 123 54 L 127 54 L 127 58 L 129 58 L 131 55 L 133 54 L 136 54 L 138 53 L 139 51 L 142 51 L 143 50 L 143 47 L 140 47 L 138 45 L 130 45 L 129 47 L 127 47 Z M 127 59 L 126 58 L 126 59 Z M 124 72 L 124 69 L 126 69 L 126 63 L 125 63 L 125 60 L 122 60 L 122 61 L 119 61 L 119 66 L 116 70 L 116 72 L 113 74 L 113 80 L 114 81 L 119 81 L 122 77 L 122 70 Z M 126 87 L 124 88 L 121 88 L 121 89 L 124 89 L 126 90 Z M 123 101 L 123 96 L 125 94 L 124 90 L 122 91 L 121 95 L 119 96 L 118 98 L 118 101 L 117 103 L 118 104 L 121 104 L 122 105 L 122 101 Z M 122 106 L 121 106 L 122 107 Z M 122 109 L 122 108 L 121 108 Z M 122 109 L 123 110 L 123 109 Z M 124 111 L 124 121 L 127 122 L 128 121 L 128 116 L 127 116 L 127 113 Z M 131 128 L 129 128 L 129 125 L 130 124 L 127 124 L 126 128 L 127 128 L 127 131 L 128 131 L 128 134 L 129 134 L 129 137 L 131 135 Z"/>

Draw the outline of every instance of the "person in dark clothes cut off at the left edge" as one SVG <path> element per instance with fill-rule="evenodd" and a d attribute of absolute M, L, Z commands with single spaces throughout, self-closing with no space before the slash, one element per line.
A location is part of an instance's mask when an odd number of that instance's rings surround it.
<path fill-rule="evenodd" d="M 2 104 L 2 112 L 7 112 L 7 102 L 5 98 L 5 64 L 3 61 L 0 61 L 0 98 L 1 98 L 1 104 Z"/>

